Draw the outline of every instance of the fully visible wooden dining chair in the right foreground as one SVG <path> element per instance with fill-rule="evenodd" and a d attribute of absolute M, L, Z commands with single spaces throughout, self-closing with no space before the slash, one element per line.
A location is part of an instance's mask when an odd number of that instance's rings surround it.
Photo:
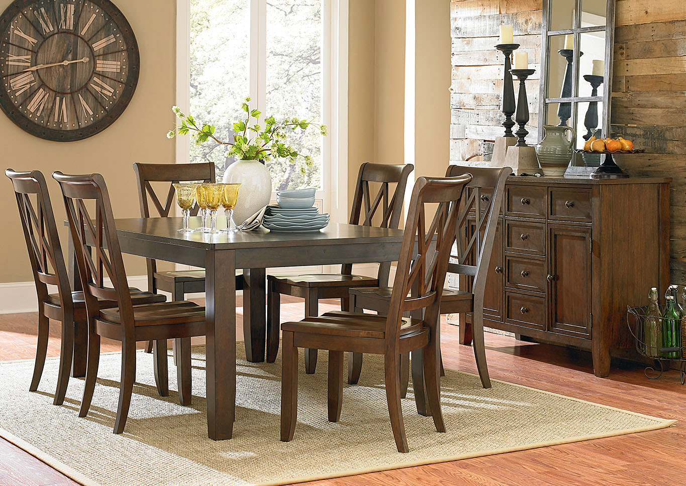
<path fill-rule="evenodd" d="M 458 206 L 469 180 L 471 175 L 464 174 L 456 178 L 418 178 L 414 184 L 386 317 L 334 311 L 281 325 L 282 441 L 293 439 L 296 426 L 298 348 L 329 350 L 329 422 L 338 422 L 341 415 L 343 353 L 383 354 L 388 413 L 399 452 L 409 451 L 400 401 L 400 354 L 423 350 L 423 371 L 434 425 L 438 432 L 445 432 L 440 409 L 437 324 L 448 258 L 456 238 Z M 433 219 L 427 217 L 432 209 L 427 207 L 429 204 L 438 204 Z M 414 311 L 423 311 L 423 319 L 403 317 L 403 313 Z"/>

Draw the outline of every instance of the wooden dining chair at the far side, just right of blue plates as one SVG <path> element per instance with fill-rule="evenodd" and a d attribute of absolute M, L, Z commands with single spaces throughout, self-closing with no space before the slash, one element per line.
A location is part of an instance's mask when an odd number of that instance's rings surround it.
<path fill-rule="evenodd" d="M 359 168 L 350 224 L 397 229 L 403 210 L 407 178 L 414 165 L 388 165 L 365 162 Z M 372 199 L 370 183 L 380 184 Z M 392 191 L 391 184 L 395 184 Z M 362 210 L 364 208 L 364 215 Z M 390 263 L 380 263 L 376 277 L 353 275 L 353 265 L 344 264 L 340 274 L 307 274 L 267 276 L 267 361 L 274 363 L 279 353 L 279 319 L 281 294 L 305 299 L 305 317 L 319 315 L 320 299 L 340 299 L 341 310 L 350 311 L 351 287 L 385 287 Z M 317 350 L 305 350 L 305 372 L 313 374 Z"/>

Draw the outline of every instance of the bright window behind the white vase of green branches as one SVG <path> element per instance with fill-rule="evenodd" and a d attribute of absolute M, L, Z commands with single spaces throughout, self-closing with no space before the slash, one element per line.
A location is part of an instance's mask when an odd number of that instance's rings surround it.
<path fill-rule="evenodd" d="M 220 140 L 230 139 L 233 121 L 242 117 L 241 101 L 250 95 L 250 106 L 261 110 L 261 118 L 273 114 L 330 125 L 322 118 L 324 10 L 322 0 L 191 0 L 193 116 L 213 123 Z M 324 189 L 330 154 L 324 153 L 318 130 L 297 130 L 288 143 L 314 164 L 303 174 L 287 159 L 268 162 L 274 190 Z M 215 163 L 217 180 L 233 162 L 225 153 L 226 147 L 212 143 L 189 146 L 191 162 Z"/>

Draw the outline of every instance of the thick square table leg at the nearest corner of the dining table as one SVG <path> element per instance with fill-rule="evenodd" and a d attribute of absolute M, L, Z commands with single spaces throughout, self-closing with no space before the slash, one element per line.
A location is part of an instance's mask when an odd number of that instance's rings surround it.
<path fill-rule="evenodd" d="M 236 407 L 235 272 L 233 251 L 206 252 L 207 435 L 214 440 L 230 439 L 233 434 Z"/>

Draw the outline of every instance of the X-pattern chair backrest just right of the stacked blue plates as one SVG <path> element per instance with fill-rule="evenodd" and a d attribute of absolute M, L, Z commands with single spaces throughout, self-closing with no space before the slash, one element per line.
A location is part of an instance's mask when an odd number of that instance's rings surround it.
<path fill-rule="evenodd" d="M 359 167 L 353 208 L 350 214 L 350 223 L 362 226 L 374 226 L 375 221 L 379 228 L 397 229 L 400 224 L 400 216 L 403 212 L 403 199 L 405 199 L 405 187 L 407 178 L 414 170 L 414 165 L 389 165 L 364 162 Z M 372 199 L 370 191 L 371 183 L 380 183 L 378 193 Z M 391 184 L 395 185 L 393 190 Z M 364 210 L 364 212 L 363 212 Z M 350 275 L 353 265 L 343 265 L 342 273 Z M 379 264 L 379 285 L 388 285 L 390 262 Z"/>

